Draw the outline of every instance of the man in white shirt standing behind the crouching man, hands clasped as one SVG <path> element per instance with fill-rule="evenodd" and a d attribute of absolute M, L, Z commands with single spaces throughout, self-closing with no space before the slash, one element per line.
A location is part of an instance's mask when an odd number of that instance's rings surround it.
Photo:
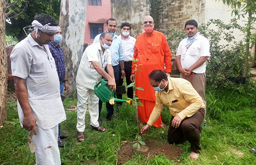
<path fill-rule="evenodd" d="M 181 72 L 180 77 L 188 80 L 202 97 L 206 114 L 206 61 L 210 58 L 210 44 L 207 38 L 198 32 L 198 24 L 191 19 L 185 23 L 187 38 L 181 40 L 176 64 Z"/>

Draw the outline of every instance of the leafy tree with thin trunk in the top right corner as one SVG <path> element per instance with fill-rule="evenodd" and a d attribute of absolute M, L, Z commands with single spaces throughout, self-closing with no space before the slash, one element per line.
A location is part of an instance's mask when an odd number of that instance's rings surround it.
<path fill-rule="evenodd" d="M 217 0 L 215 0 L 217 1 Z M 219 0 L 220 1 L 220 0 Z M 249 48 L 252 48 L 255 44 L 256 37 L 252 33 L 255 28 L 252 26 L 256 22 L 256 2 L 255 0 L 222 0 L 224 4 L 227 4 L 232 8 L 231 15 L 235 15 L 235 18 L 240 19 L 247 17 L 245 26 L 243 27 L 243 33 L 246 36 L 246 52 L 245 52 L 245 65 L 243 70 L 243 77 L 246 76 L 248 66 Z"/>

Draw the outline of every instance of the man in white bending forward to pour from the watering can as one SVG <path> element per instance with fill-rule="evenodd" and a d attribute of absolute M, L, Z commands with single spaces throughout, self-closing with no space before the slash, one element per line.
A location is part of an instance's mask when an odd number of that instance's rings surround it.
<path fill-rule="evenodd" d="M 82 142 L 85 138 L 85 113 L 88 109 L 90 114 L 90 126 L 99 132 L 105 132 L 105 128 L 98 122 L 99 99 L 94 93 L 94 85 L 96 85 L 102 77 L 108 80 L 109 88 L 116 88 L 114 70 L 111 64 L 111 54 L 109 47 L 111 46 L 113 37 L 110 33 L 104 32 L 100 35 L 98 43 L 89 45 L 83 52 L 82 59 L 79 64 L 76 75 L 77 88 L 77 140 Z M 104 70 L 106 69 L 107 72 Z"/>

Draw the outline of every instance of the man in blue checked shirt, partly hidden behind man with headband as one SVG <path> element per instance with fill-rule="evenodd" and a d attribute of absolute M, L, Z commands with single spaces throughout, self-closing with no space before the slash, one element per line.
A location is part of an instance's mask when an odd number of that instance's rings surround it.
<path fill-rule="evenodd" d="M 65 60 L 64 60 L 64 54 L 62 52 L 62 49 L 60 48 L 60 42 L 62 40 L 62 31 L 60 26 L 58 26 L 58 32 L 54 35 L 54 40 L 49 42 L 48 46 L 49 49 L 53 55 L 55 64 L 56 64 L 56 69 L 57 73 L 59 76 L 59 81 L 60 81 L 60 94 L 64 95 L 64 90 L 69 91 L 69 85 L 68 85 L 68 80 L 65 77 L 66 70 L 65 70 Z M 68 145 L 69 143 L 65 142 L 64 138 L 67 138 L 68 135 L 66 135 L 64 132 L 61 132 L 60 130 L 60 124 L 59 124 L 59 134 L 58 134 L 58 146 L 59 147 L 64 147 L 64 145 Z"/>

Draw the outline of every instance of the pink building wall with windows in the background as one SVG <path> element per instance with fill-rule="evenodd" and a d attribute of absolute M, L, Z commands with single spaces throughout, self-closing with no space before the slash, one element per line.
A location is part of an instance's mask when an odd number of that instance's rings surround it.
<path fill-rule="evenodd" d="M 84 43 L 92 43 L 94 39 L 90 39 L 89 23 L 103 23 L 103 32 L 107 30 L 106 21 L 111 18 L 110 0 L 102 0 L 102 6 L 89 6 L 87 0 L 87 14 L 85 23 Z"/>

